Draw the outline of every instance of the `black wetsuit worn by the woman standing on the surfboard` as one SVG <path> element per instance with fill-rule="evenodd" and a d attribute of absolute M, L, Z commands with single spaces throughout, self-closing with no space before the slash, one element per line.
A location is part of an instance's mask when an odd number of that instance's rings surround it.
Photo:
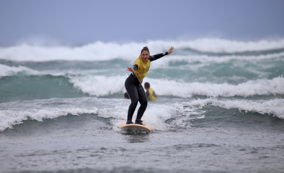
<path fill-rule="evenodd" d="M 150 55 L 148 61 L 149 60 L 151 62 L 155 61 L 167 54 L 168 52 L 162 54 L 156 54 L 153 56 Z M 138 65 L 134 64 L 132 68 L 136 71 L 138 69 Z M 138 101 L 141 104 L 141 106 L 138 109 L 136 119 L 141 120 L 148 104 L 146 93 L 143 86 L 141 85 L 141 83 L 133 73 L 131 73 L 128 76 L 128 78 L 125 80 L 124 86 L 131 100 L 131 103 L 128 108 L 127 121 L 132 121 L 132 117 L 136 109 L 136 106 L 138 104 Z"/>

